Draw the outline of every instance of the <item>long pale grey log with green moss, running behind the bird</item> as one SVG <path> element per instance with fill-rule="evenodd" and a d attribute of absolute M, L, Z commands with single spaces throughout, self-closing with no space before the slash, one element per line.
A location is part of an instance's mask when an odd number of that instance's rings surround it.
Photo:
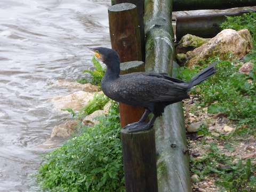
<path fill-rule="evenodd" d="M 172 1 L 145 1 L 145 34 L 147 72 L 172 74 L 174 38 Z M 189 156 L 181 102 L 165 108 L 158 117 L 156 130 L 158 191 L 191 191 Z"/>

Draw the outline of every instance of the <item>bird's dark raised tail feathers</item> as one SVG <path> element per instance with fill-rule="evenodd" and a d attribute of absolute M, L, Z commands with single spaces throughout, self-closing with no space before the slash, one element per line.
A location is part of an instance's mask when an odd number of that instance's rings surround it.
<path fill-rule="evenodd" d="M 217 73 L 218 68 L 214 68 L 214 66 L 217 64 L 217 62 L 214 62 L 212 65 L 206 67 L 204 70 L 202 70 L 200 73 L 198 73 L 196 76 L 190 79 L 190 87 L 196 86 L 197 84 L 203 82 L 205 79 L 211 77 L 215 73 Z"/>

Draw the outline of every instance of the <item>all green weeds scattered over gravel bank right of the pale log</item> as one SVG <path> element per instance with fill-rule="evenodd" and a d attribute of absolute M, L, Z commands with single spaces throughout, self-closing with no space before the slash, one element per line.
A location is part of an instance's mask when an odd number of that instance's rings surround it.
<path fill-rule="evenodd" d="M 253 37 L 253 49 L 243 59 L 243 63 L 254 63 L 253 69 L 248 75 L 238 73 L 242 66 L 241 61 L 221 61 L 210 58 L 203 61 L 202 66 L 195 69 L 181 67 L 179 78 L 189 80 L 200 70 L 213 63 L 218 62 L 218 73 L 210 80 L 203 82 L 190 91 L 191 95 L 196 95 L 199 101 L 194 101 L 195 106 L 192 113 L 198 113 L 199 108 L 208 108 L 208 113 L 222 113 L 236 124 L 236 130 L 229 135 L 219 133 L 220 137 L 215 137 L 206 126 L 201 126 L 198 135 L 214 138 L 213 140 L 198 140 L 196 146 L 204 153 L 200 158 L 191 158 L 191 174 L 199 175 L 202 180 L 205 177 L 215 178 L 215 185 L 221 191 L 255 191 L 256 190 L 256 164 L 252 158 L 243 159 L 232 154 L 236 150 L 235 146 L 240 141 L 255 137 L 256 133 L 256 13 L 244 14 L 243 17 L 227 17 L 227 22 L 222 23 L 222 28 L 249 29 Z M 202 110 L 202 109 L 201 109 Z M 214 131 L 217 132 L 216 130 Z M 228 154 L 221 153 L 223 146 Z"/>

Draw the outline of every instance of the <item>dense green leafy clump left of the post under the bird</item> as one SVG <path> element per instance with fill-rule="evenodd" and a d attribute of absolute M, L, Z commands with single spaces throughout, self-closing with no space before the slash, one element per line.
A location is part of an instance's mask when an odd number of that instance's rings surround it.
<path fill-rule="evenodd" d="M 117 104 L 98 120 L 43 158 L 37 177 L 42 190 L 125 191 Z"/>

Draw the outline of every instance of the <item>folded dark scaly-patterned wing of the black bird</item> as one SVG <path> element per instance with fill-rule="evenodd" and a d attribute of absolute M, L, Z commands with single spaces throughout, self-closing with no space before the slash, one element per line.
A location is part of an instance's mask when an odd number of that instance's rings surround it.
<path fill-rule="evenodd" d="M 122 75 L 126 84 L 122 97 L 131 102 L 163 102 L 187 95 L 188 84 L 163 74 L 135 73 Z M 168 77 L 168 78 L 167 78 Z M 173 80 L 173 81 L 172 81 Z M 186 98 L 186 97 L 185 97 Z"/>

